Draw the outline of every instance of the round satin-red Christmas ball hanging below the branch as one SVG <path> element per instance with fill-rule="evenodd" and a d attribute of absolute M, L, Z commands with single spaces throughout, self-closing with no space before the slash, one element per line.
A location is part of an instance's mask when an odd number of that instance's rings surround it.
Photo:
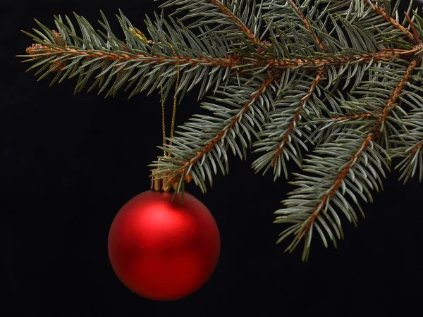
<path fill-rule="evenodd" d="M 212 275 L 220 235 L 209 209 L 188 192 L 149 190 L 130 199 L 111 224 L 108 251 L 131 291 L 166 301 L 198 290 Z"/>

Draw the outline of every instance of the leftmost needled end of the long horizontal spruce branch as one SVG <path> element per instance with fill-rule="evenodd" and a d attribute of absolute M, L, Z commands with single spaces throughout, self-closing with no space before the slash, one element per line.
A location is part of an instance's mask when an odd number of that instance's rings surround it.
<path fill-rule="evenodd" d="M 152 44 L 151 46 L 147 45 L 147 42 L 140 37 L 133 35 L 131 32 L 133 25 L 123 13 L 118 16 L 118 20 L 127 37 L 126 42 L 114 37 L 103 13 L 102 16 L 104 22 L 101 24 L 106 33 L 94 31 L 85 18 L 75 14 L 83 38 L 75 35 L 75 27 L 67 16 L 67 24 L 60 16 L 55 16 L 55 23 L 60 32 L 49 30 L 38 21 L 36 22 L 44 33 L 35 30 L 37 35 L 32 35 L 24 31 L 37 42 L 27 49 L 27 53 L 30 55 L 30 59 L 27 61 L 41 60 L 30 68 L 40 67 L 36 75 L 44 71 L 39 80 L 49 73 L 56 72 L 57 75 L 52 80 L 52 85 L 58 80 L 62 82 L 66 77 L 71 78 L 78 75 L 75 92 L 80 92 L 90 77 L 95 76 L 95 82 L 88 92 L 98 85 L 99 93 L 101 93 L 110 84 L 107 97 L 110 94 L 116 94 L 118 89 L 128 83 L 125 90 L 135 84 L 130 97 L 148 87 L 150 87 L 148 94 L 157 87 L 163 87 L 162 93 L 166 99 L 176 80 L 175 66 L 177 66 L 182 73 L 182 85 L 178 89 L 178 97 L 181 100 L 185 92 L 199 82 L 202 82 L 200 97 L 212 85 L 219 86 L 222 79 L 230 77 L 231 68 L 238 65 L 236 56 L 227 54 L 229 45 L 227 42 L 218 41 L 219 47 L 214 47 L 211 45 L 213 39 L 207 36 L 201 40 L 197 39 L 190 30 L 183 25 L 178 25 L 174 20 L 171 20 L 172 25 L 166 23 L 163 15 L 160 17 L 156 15 L 155 23 L 147 18 L 147 29 L 150 34 L 155 41 L 162 42 L 160 45 Z M 163 31 L 164 27 L 168 29 L 169 34 Z M 185 41 L 189 44 L 185 44 Z M 176 48 L 178 56 L 175 56 L 170 45 L 167 44 L 168 42 L 171 42 L 171 45 Z M 58 63 L 60 63 L 60 68 L 56 67 Z M 188 68 L 190 69 L 188 70 Z M 96 73 L 97 75 L 94 75 Z M 115 77 L 115 81 L 111 82 L 113 77 Z M 191 82 L 192 79 L 195 79 L 194 82 Z"/>

